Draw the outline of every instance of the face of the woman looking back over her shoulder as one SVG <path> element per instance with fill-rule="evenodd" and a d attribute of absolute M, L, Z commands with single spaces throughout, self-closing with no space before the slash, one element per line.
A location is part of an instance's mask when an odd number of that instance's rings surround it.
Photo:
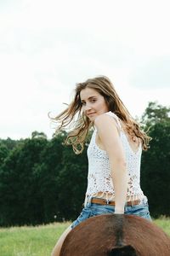
<path fill-rule="evenodd" d="M 99 114 L 109 111 L 104 96 L 101 96 L 97 90 L 85 88 L 81 90 L 80 98 L 82 111 L 91 121 L 94 121 Z"/>

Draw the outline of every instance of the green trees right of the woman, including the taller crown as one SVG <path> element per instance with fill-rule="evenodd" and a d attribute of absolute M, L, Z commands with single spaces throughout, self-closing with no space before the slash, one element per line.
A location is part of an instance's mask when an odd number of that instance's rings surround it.
<path fill-rule="evenodd" d="M 150 202 L 152 216 L 170 215 L 170 108 L 150 102 L 143 115 L 152 137 L 142 157 L 142 188 Z"/>

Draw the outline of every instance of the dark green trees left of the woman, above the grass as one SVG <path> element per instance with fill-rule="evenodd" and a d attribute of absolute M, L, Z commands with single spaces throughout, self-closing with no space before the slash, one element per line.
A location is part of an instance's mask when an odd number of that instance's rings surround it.
<path fill-rule="evenodd" d="M 11 150 L 0 143 L 0 225 L 74 219 L 87 182 L 86 150 L 77 156 L 61 132 L 50 141 L 32 132 Z"/>

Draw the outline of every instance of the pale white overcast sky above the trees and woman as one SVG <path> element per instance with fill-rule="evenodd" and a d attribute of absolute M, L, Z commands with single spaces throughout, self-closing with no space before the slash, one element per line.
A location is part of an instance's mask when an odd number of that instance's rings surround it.
<path fill-rule="evenodd" d="M 169 106 L 170 3 L 1 0 L 0 137 L 52 137 L 48 112 L 75 84 L 106 75 L 133 116 Z"/>

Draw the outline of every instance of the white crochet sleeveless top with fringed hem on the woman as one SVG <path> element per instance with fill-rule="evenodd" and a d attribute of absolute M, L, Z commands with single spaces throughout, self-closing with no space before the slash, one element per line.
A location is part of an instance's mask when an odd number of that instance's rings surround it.
<path fill-rule="evenodd" d="M 142 189 L 140 188 L 140 161 L 142 154 L 142 146 L 139 143 L 139 149 L 135 153 L 131 148 L 127 136 L 122 130 L 122 125 L 115 113 L 105 113 L 116 119 L 116 124 L 120 131 L 120 139 L 122 141 L 123 150 L 126 157 L 128 184 L 127 184 L 127 198 L 135 200 L 136 198 L 144 198 Z M 88 145 L 88 189 L 85 197 L 85 205 L 88 198 L 97 195 L 98 192 L 103 192 L 106 195 L 115 195 L 114 185 L 111 178 L 111 166 L 109 157 L 106 151 L 100 149 L 96 144 L 97 130 L 94 127 L 94 133 Z M 114 171 L 113 171 L 114 172 Z"/>

